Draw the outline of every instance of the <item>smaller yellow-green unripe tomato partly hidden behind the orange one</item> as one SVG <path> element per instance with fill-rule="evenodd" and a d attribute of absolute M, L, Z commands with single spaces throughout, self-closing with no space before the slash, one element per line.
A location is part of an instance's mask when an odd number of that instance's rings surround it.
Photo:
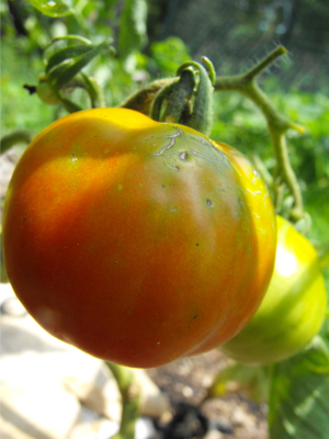
<path fill-rule="evenodd" d="M 315 248 L 277 216 L 275 268 L 265 297 L 248 325 L 219 349 L 251 365 L 284 360 L 319 331 L 326 307 L 326 285 Z"/>

